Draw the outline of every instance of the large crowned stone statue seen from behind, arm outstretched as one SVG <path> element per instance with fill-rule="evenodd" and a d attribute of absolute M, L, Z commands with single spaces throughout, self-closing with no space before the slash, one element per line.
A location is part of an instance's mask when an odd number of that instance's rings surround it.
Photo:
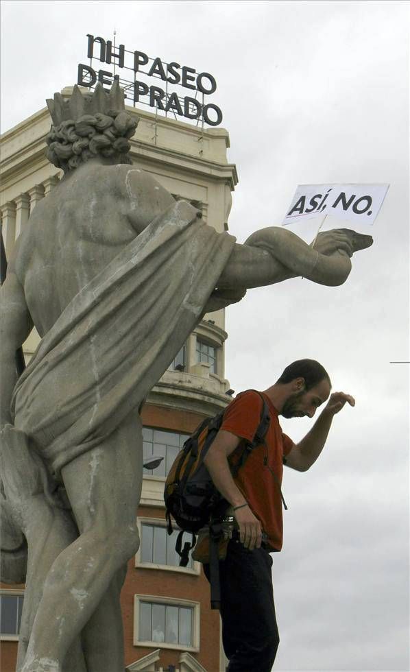
<path fill-rule="evenodd" d="M 206 312 L 296 276 L 341 285 L 372 239 L 340 229 L 309 246 L 265 228 L 239 245 L 130 165 L 136 122 L 118 82 L 47 104 L 47 156 L 64 177 L 2 287 L 2 579 L 27 573 L 19 671 L 123 672 L 141 403 Z M 41 341 L 17 379 L 33 325 Z"/>

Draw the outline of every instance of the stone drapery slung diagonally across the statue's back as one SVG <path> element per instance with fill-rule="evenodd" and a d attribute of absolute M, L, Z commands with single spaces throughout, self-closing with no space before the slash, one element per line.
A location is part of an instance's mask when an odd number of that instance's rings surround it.
<path fill-rule="evenodd" d="M 180 201 L 156 217 L 71 300 L 17 381 L 14 427 L 54 474 L 138 409 L 212 309 L 235 239 L 197 215 Z"/>

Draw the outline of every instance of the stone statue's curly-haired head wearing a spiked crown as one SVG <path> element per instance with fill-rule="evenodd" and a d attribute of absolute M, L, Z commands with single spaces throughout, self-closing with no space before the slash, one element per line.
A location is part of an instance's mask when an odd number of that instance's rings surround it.
<path fill-rule="evenodd" d="M 138 121 L 125 112 L 118 80 L 110 91 L 98 83 L 93 93 L 82 93 L 75 85 L 69 99 L 55 93 L 47 106 L 53 123 L 46 137 L 46 155 L 64 173 L 92 158 L 132 163 L 129 139 Z"/>

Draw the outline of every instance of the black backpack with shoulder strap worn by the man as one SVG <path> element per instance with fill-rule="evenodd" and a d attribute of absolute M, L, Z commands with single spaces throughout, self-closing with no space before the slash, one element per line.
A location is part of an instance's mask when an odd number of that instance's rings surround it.
<path fill-rule="evenodd" d="M 256 392 L 256 390 L 248 390 Z M 270 423 L 269 410 L 263 396 L 261 420 L 251 442 L 241 441 L 243 447 L 241 457 L 235 467 L 233 475 L 243 466 L 253 449 L 262 444 Z M 224 411 L 213 418 L 206 418 L 195 432 L 186 440 L 180 453 L 173 461 L 165 481 L 164 499 L 167 519 L 167 530 L 172 534 L 171 516 L 180 527 L 176 541 L 176 552 L 180 556 L 180 566 L 186 567 L 189 561 L 189 551 L 196 543 L 196 533 L 210 524 L 211 518 L 223 516 L 228 502 L 219 494 L 209 472 L 204 465 L 204 458 L 210 445 L 224 420 Z M 185 542 L 182 549 L 184 532 L 192 534 L 192 542 Z"/>

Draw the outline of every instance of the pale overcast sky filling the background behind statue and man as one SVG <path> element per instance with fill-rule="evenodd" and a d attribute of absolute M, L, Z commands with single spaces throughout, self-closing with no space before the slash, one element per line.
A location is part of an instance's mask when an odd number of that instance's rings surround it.
<path fill-rule="evenodd" d="M 265 389 L 312 357 L 357 399 L 309 472 L 285 470 L 274 669 L 408 671 L 409 364 L 390 362 L 410 359 L 409 4 L 3 0 L 1 11 L 3 131 L 75 83 L 87 33 L 115 27 L 127 49 L 212 73 L 239 173 L 239 242 L 280 225 L 298 184 L 391 185 L 345 285 L 289 280 L 228 309 L 226 377 L 237 392 Z M 311 240 L 317 225 L 293 230 Z M 282 426 L 297 441 L 311 421 Z"/>

